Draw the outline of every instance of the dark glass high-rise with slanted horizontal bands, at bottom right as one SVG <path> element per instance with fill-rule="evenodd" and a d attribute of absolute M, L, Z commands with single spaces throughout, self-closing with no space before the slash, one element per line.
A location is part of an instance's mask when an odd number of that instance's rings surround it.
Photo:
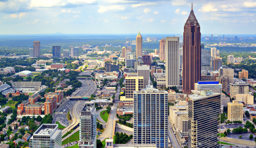
<path fill-rule="evenodd" d="M 191 91 L 188 96 L 189 148 L 218 148 L 218 114 L 220 94 L 212 91 Z"/>

